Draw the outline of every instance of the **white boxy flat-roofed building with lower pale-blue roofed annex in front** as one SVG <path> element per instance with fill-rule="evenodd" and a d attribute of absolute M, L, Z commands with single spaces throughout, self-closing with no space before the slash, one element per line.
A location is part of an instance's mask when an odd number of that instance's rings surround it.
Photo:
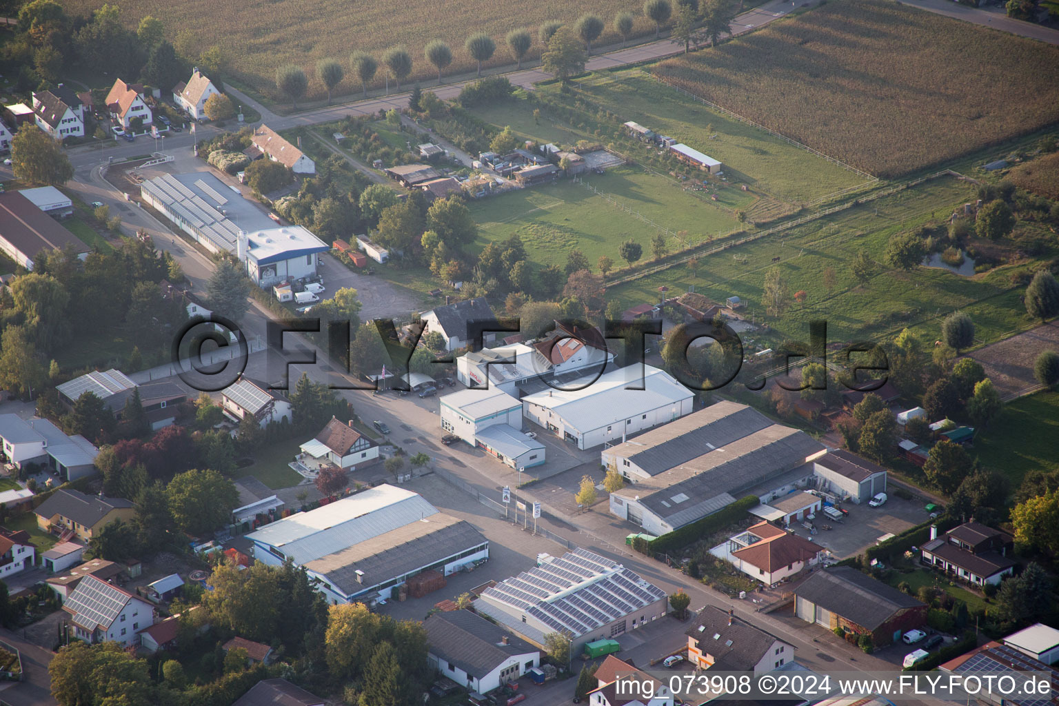
<path fill-rule="evenodd" d="M 544 463 L 544 445 L 522 433 L 522 403 L 498 387 L 445 395 L 442 428 L 511 468 Z"/>

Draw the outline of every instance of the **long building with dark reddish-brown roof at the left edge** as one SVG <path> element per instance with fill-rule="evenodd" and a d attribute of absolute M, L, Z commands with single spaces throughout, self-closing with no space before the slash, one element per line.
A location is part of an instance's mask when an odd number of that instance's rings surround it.
<path fill-rule="evenodd" d="M 72 248 L 85 259 L 91 248 L 19 192 L 0 194 L 0 250 L 26 270 L 43 251 Z"/>

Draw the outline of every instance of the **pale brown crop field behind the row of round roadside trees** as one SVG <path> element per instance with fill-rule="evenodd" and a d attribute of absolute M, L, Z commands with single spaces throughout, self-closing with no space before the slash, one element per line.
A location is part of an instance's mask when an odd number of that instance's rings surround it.
<path fill-rule="evenodd" d="M 60 0 L 68 13 L 91 16 L 103 0 Z M 631 36 L 653 36 L 654 23 L 644 17 L 643 0 L 433 0 L 406 2 L 342 3 L 333 0 L 258 0 L 256 2 L 215 2 L 214 0 L 123 0 L 122 20 L 136 30 L 140 18 L 154 15 L 165 23 L 170 41 L 187 30 L 197 42 L 197 51 L 219 46 L 230 61 L 230 71 L 241 85 L 265 96 L 279 98 L 275 69 L 294 64 L 309 76 L 307 99 L 323 98 L 326 91 L 316 80 L 318 59 L 334 57 L 346 69 L 346 77 L 335 95 L 359 93 L 360 83 L 349 75 L 346 59 L 351 52 L 362 50 L 379 61 L 374 85 L 384 84 L 382 53 L 390 47 L 405 44 L 414 61 L 411 86 L 417 78 L 424 88 L 436 83 L 437 70 L 424 57 L 424 47 L 433 39 L 447 42 L 454 54 L 446 74 L 472 71 L 477 64 L 464 50 L 464 40 L 485 32 L 497 42 L 489 66 L 515 64 L 504 36 L 517 28 L 528 28 L 533 46 L 527 58 L 540 56 L 537 28 L 548 20 L 575 22 L 582 13 L 595 13 L 606 28 L 592 42 L 596 47 L 620 42 L 613 29 L 614 16 L 631 12 L 636 16 Z M 433 80 L 431 80 L 433 78 Z M 401 84 L 405 85 L 405 82 Z M 169 87 L 164 87 L 169 88 Z M 393 82 L 391 80 L 391 88 Z"/>

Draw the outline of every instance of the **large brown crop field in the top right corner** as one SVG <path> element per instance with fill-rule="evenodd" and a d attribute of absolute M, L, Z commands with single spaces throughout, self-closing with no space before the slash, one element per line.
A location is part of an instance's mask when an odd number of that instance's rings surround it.
<path fill-rule="evenodd" d="M 831 2 L 659 78 L 876 176 L 1059 121 L 1059 52 L 897 3 Z"/>

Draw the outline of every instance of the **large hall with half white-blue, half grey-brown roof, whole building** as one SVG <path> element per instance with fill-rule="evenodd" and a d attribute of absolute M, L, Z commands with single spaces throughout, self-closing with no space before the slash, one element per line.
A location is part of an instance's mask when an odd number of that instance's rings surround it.
<path fill-rule="evenodd" d="M 428 569 L 446 576 L 488 559 L 474 527 L 417 493 L 381 485 L 247 535 L 257 561 L 304 566 L 328 603 L 389 599 Z"/>

